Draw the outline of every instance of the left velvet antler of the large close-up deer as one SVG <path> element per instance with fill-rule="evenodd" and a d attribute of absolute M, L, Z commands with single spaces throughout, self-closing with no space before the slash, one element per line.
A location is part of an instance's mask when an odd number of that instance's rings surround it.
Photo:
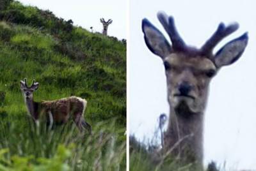
<path fill-rule="evenodd" d="M 186 43 L 180 37 L 172 16 L 168 17 L 163 11 L 157 13 L 157 18 L 163 25 L 165 31 L 170 36 L 172 41 L 172 47 L 174 50 L 184 50 L 186 48 Z"/>

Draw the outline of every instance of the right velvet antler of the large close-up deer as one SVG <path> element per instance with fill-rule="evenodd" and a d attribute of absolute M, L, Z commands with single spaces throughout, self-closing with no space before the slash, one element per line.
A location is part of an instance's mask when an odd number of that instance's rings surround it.
<path fill-rule="evenodd" d="M 213 48 L 221 41 L 223 38 L 227 37 L 229 34 L 234 33 L 239 27 L 239 24 L 234 23 L 225 27 L 221 22 L 218 26 L 218 29 L 212 34 L 211 38 L 205 42 L 202 46 L 201 51 L 203 54 L 211 54 Z"/>

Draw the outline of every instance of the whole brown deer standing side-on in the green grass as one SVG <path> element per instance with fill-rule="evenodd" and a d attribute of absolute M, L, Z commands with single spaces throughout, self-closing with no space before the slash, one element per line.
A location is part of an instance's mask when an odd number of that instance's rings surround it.
<path fill-rule="evenodd" d="M 83 117 L 86 100 L 71 96 L 60 100 L 36 102 L 33 100 L 33 92 L 38 89 L 38 85 L 38 82 L 33 80 L 32 85 L 29 87 L 26 78 L 24 81 L 20 80 L 20 89 L 24 96 L 26 107 L 35 123 L 39 123 L 40 119 L 46 119 L 51 129 L 53 123 L 65 124 L 72 118 L 79 131 L 82 132 L 85 128 L 89 133 L 92 132 L 92 126 L 86 123 Z"/>

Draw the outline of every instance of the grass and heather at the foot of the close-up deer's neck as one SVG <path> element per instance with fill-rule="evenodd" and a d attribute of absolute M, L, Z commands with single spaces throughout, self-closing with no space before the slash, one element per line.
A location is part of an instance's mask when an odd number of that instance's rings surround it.
<path fill-rule="evenodd" d="M 143 143 L 132 135 L 129 137 L 129 167 L 131 171 L 203 171 L 195 163 L 184 164 L 175 156 L 166 154 L 159 145 Z M 220 168 L 213 161 L 205 171 L 218 171 Z"/>

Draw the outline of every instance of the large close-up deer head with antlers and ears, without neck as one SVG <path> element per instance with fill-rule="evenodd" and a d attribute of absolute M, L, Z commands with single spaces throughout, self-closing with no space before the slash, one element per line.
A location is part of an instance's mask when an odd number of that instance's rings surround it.
<path fill-rule="evenodd" d="M 159 12 L 157 18 L 170 36 L 172 45 L 147 19 L 142 21 L 142 30 L 147 47 L 163 60 L 170 106 L 175 110 L 203 112 L 209 82 L 222 66 L 232 64 L 241 57 L 248 43 L 248 35 L 244 33 L 213 54 L 213 48 L 236 31 L 238 24 L 225 26 L 221 23 L 211 38 L 198 49 L 189 47 L 180 38 L 173 17 Z"/>

